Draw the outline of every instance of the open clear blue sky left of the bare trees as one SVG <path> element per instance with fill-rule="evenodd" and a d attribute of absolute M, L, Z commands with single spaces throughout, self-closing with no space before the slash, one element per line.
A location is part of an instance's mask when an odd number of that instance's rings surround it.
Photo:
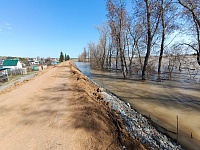
<path fill-rule="evenodd" d="M 104 0 L 0 0 L 0 56 L 78 57 L 106 13 Z"/>

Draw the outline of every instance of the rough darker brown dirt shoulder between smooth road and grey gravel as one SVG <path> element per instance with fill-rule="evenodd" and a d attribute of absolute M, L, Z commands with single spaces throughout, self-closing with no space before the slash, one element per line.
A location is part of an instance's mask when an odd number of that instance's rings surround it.
<path fill-rule="evenodd" d="M 94 133 L 94 140 L 107 149 L 143 150 L 151 149 L 133 139 L 126 131 L 122 118 L 117 116 L 109 102 L 104 100 L 102 89 L 94 85 L 73 64 L 70 63 L 71 81 L 74 83 L 72 91 L 79 101 L 72 102 L 79 116 L 75 121 L 77 128 L 83 127 Z M 74 116 L 74 117 L 76 117 Z M 111 138 L 111 139 L 110 139 Z M 102 139 L 102 140 L 101 140 Z M 102 143 L 101 141 L 106 141 Z M 103 147 L 99 147 L 100 149 Z"/>

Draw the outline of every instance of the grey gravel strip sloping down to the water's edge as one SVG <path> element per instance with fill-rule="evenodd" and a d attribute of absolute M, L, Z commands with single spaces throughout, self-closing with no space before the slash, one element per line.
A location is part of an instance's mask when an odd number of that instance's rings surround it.
<path fill-rule="evenodd" d="M 77 69 L 81 71 L 78 67 Z M 159 132 L 155 126 L 152 125 L 156 125 L 156 123 L 131 108 L 129 103 L 125 103 L 114 93 L 101 87 L 91 78 L 89 78 L 89 80 L 96 86 L 103 89 L 103 92 L 100 93 L 103 95 L 104 100 L 109 102 L 112 110 L 117 112 L 116 115 L 122 118 L 123 124 L 126 126 L 126 130 L 134 139 L 140 140 L 143 144 L 150 145 L 152 149 L 183 149 L 174 139 L 171 139 L 169 136 Z M 157 127 L 159 126 L 157 125 Z M 164 128 L 162 127 L 162 129 Z"/>

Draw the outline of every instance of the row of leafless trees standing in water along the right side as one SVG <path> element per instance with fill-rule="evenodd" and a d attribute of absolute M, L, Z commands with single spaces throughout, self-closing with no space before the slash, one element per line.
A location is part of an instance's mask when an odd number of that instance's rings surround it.
<path fill-rule="evenodd" d="M 200 65 L 199 0 L 132 0 L 131 9 L 128 2 L 106 1 L 107 22 L 96 27 L 99 42 L 90 42 L 79 61 L 89 60 L 96 69 L 120 70 L 124 78 L 137 68 L 142 79 L 152 67 L 160 78 L 163 57 L 169 57 L 172 64 L 178 56 L 193 51 Z M 178 35 L 187 38 L 175 42 Z M 151 55 L 158 56 L 156 67 Z"/>

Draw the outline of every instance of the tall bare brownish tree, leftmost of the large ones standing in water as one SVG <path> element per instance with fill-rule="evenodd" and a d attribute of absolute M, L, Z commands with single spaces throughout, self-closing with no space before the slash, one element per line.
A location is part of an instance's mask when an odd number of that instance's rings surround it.
<path fill-rule="evenodd" d="M 107 10 L 108 10 L 108 22 L 111 29 L 111 36 L 113 44 L 116 48 L 116 69 L 118 68 L 118 57 L 120 56 L 121 70 L 123 77 L 127 76 L 127 63 L 126 63 L 126 54 L 124 49 L 124 38 L 126 31 L 127 23 L 127 12 L 125 9 L 125 3 L 122 0 L 119 2 L 113 2 L 112 0 L 107 1 Z"/>

